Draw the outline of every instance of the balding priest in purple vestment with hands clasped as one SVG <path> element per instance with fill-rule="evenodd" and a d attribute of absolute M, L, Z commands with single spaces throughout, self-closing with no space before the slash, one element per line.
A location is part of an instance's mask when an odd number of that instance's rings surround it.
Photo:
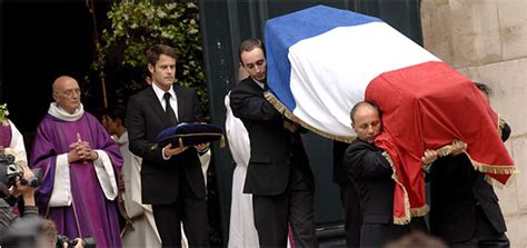
<path fill-rule="evenodd" d="M 37 129 L 31 153 L 31 167 L 43 171 L 37 205 L 59 235 L 121 247 L 115 199 L 122 158 L 97 118 L 83 110 L 80 95 L 71 77 L 53 82 L 54 102 Z"/>

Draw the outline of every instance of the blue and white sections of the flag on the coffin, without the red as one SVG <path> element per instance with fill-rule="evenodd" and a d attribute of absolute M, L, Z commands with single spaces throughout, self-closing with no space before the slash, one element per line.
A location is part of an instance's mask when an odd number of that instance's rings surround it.
<path fill-rule="evenodd" d="M 374 78 L 440 61 L 378 18 L 326 6 L 268 20 L 265 37 L 276 97 L 305 123 L 345 140 L 355 136 L 349 110 Z"/>

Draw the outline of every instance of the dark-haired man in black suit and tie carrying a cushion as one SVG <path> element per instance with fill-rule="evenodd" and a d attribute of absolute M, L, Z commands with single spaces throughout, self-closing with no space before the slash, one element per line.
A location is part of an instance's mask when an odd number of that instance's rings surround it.
<path fill-rule="evenodd" d="M 190 246 L 208 246 L 205 179 L 195 147 L 158 147 L 163 129 L 201 118 L 193 89 L 173 85 L 177 56 L 173 48 L 157 44 L 147 51 L 153 83 L 128 100 L 130 151 L 142 158 L 142 202 L 151 204 L 162 246 L 181 246 L 180 222 Z"/>

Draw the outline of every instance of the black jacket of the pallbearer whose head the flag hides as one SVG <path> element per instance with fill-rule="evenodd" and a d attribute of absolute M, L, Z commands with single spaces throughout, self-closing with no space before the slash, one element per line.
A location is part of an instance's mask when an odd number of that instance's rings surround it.
<path fill-rule="evenodd" d="M 506 125 L 501 139 L 505 141 L 509 133 Z M 507 230 L 493 186 L 485 180 L 485 173 L 474 169 L 465 153 L 437 159 L 427 179 L 430 180 L 432 235 L 447 242 L 469 240 L 476 231 L 478 205 L 496 231 Z"/>

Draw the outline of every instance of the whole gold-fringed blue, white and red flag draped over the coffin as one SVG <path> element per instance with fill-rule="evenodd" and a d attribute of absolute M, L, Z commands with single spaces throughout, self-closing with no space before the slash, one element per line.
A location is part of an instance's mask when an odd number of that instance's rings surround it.
<path fill-rule="evenodd" d="M 473 82 L 380 19 L 316 6 L 268 20 L 265 38 L 267 99 L 288 118 L 350 141 L 354 105 L 379 106 L 376 145 L 395 171 L 396 224 L 427 212 L 426 149 L 459 139 L 476 169 L 503 183 L 514 171 L 498 117 Z"/>

